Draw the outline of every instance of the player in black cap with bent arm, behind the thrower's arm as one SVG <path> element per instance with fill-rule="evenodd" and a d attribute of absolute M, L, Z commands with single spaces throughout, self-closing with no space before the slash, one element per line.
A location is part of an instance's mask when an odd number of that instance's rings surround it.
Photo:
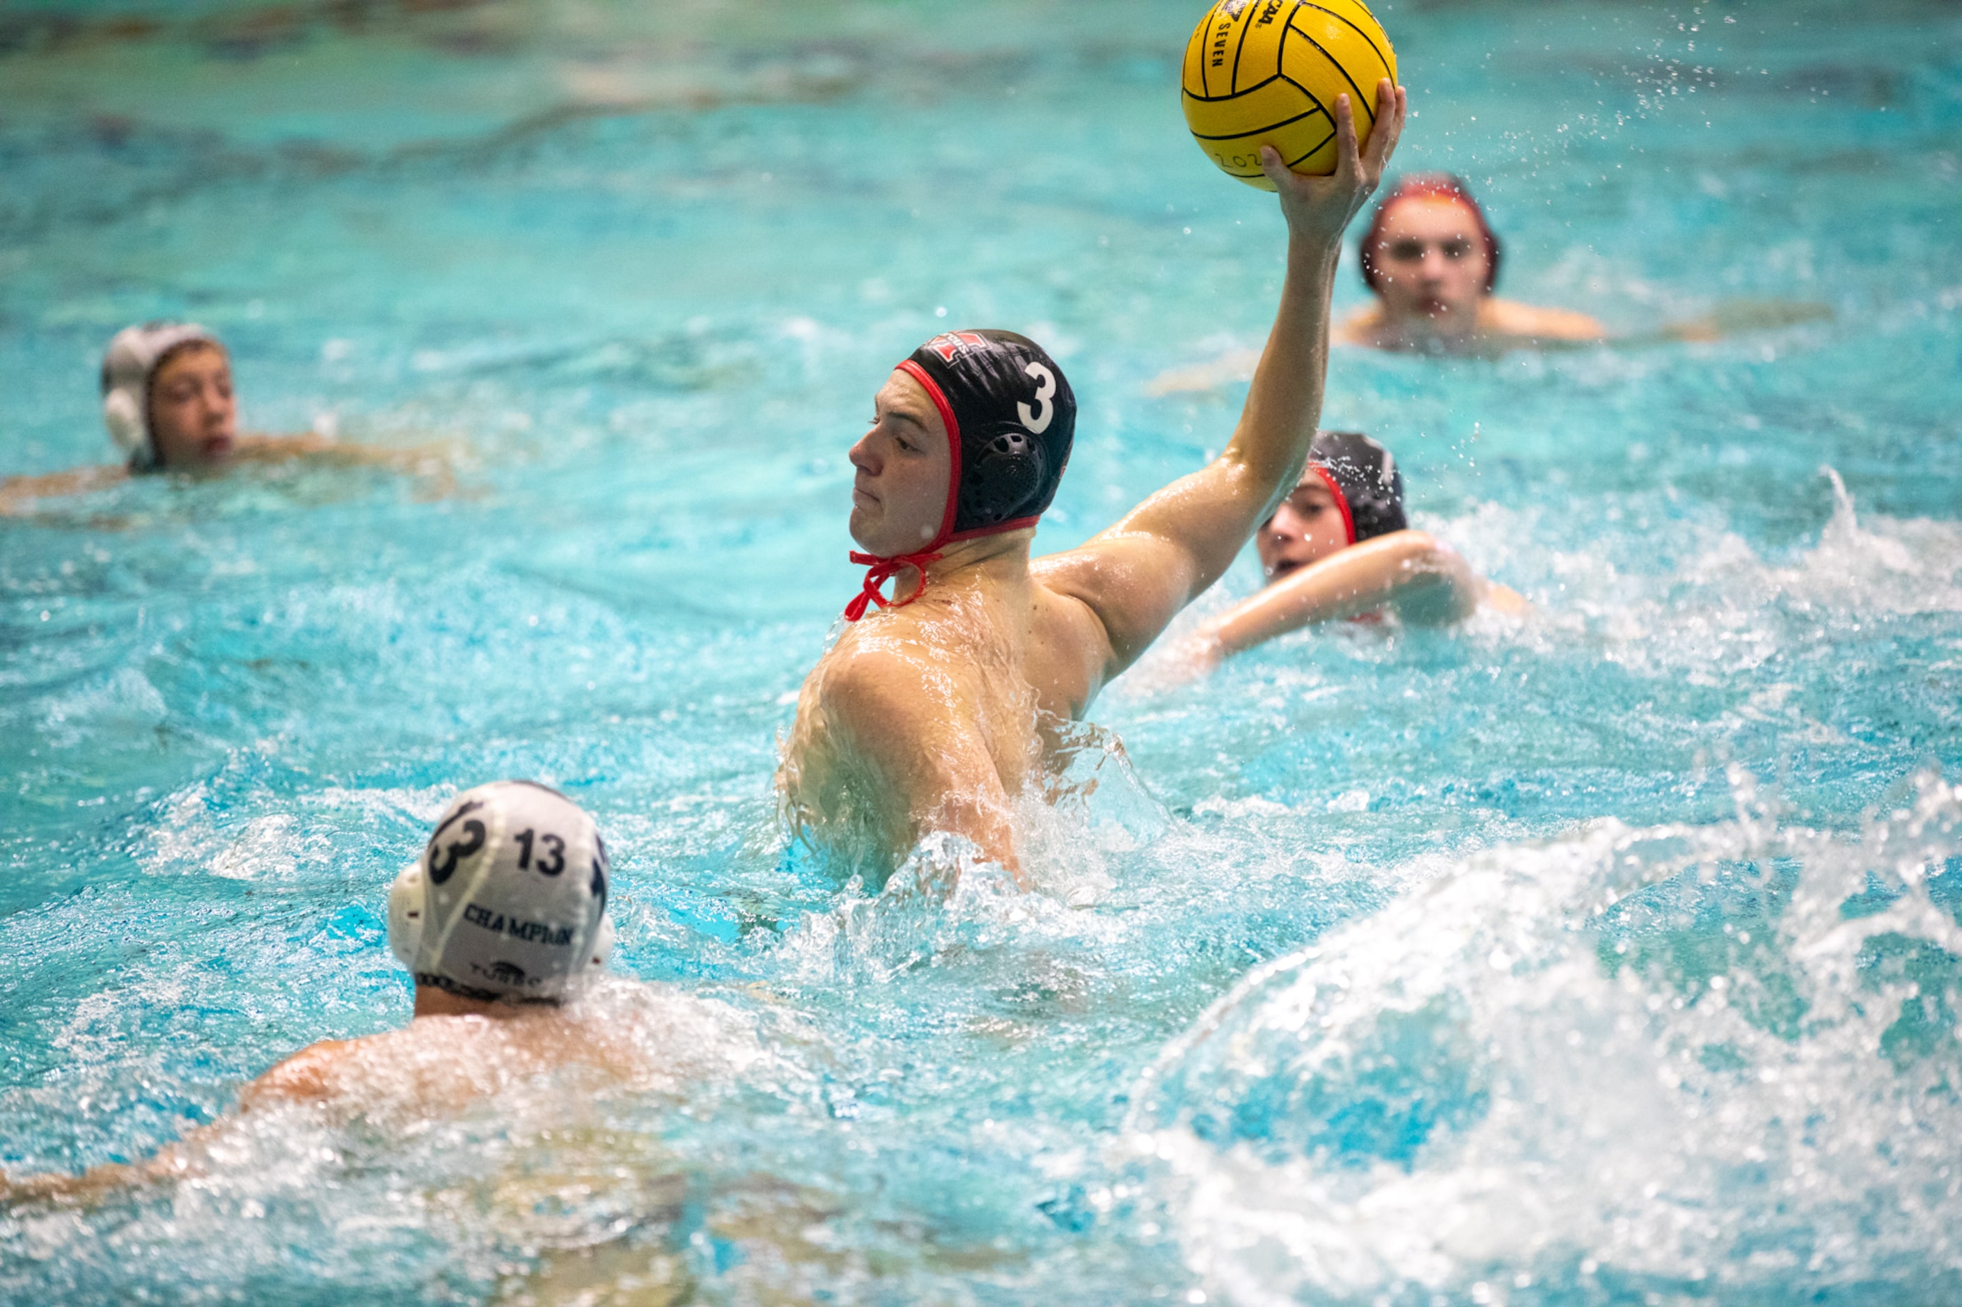
<path fill-rule="evenodd" d="M 1195 655 L 1214 663 L 1275 636 L 1338 618 L 1391 612 L 1417 626 L 1460 622 L 1489 602 L 1526 601 L 1485 581 L 1442 540 L 1403 516 L 1403 471 L 1362 432 L 1318 432 L 1301 485 L 1254 536 L 1267 587 L 1213 618 Z"/>

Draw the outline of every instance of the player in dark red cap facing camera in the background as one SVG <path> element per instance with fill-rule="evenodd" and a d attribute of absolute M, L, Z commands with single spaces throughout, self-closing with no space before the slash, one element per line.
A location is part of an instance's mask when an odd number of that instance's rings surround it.
<path fill-rule="evenodd" d="M 1493 294 L 1499 237 L 1472 190 L 1448 173 L 1397 183 L 1369 220 L 1358 255 L 1375 304 L 1342 324 L 1344 343 L 1377 349 L 1483 351 L 1603 340 L 1587 314 Z"/>

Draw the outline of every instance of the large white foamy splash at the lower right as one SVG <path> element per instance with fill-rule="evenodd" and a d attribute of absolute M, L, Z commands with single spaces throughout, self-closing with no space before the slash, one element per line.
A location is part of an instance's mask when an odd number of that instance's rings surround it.
<path fill-rule="evenodd" d="M 1958 836 L 1923 777 L 1852 840 L 1750 812 L 1483 854 L 1250 973 L 1134 1146 L 1228 1301 L 1954 1293 Z"/>

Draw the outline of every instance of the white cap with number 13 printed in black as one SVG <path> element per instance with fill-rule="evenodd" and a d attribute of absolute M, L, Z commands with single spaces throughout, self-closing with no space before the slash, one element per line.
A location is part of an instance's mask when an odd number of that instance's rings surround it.
<path fill-rule="evenodd" d="M 532 781 L 457 795 L 388 889 L 388 948 L 465 999 L 557 1003 L 612 952 L 606 844 L 571 799 Z"/>

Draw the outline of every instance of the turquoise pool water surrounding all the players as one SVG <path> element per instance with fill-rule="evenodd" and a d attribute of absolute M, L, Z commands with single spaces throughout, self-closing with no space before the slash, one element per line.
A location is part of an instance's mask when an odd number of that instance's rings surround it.
<path fill-rule="evenodd" d="M 1242 387 L 1146 394 L 1258 343 L 1277 275 L 1183 135 L 1197 8 L 0 10 L 0 471 L 102 461 L 102 341 L 184 314 L 249 428 L 449 442 L 461 483 L 0 524 L 0 1168 L 398 1024 L 387 883 L 504 775 L 598 816 L 616 969 L 671 989 L 594 1003 L 677 1064 L 275 1119 L 0 1215 L 0 1299 L 1962 1299 L 1952 6 L 1379 6 L 1399 165 L 1472 179 L 1505 292 L 1829 316 L 1338 351 L 1328 422 L 1528 620 L 1148 659 L 1028 814 L 1036 895 L 787 848 L 893 359 L 1056 349 L 1042 548 L 1230 430 Z"/>

